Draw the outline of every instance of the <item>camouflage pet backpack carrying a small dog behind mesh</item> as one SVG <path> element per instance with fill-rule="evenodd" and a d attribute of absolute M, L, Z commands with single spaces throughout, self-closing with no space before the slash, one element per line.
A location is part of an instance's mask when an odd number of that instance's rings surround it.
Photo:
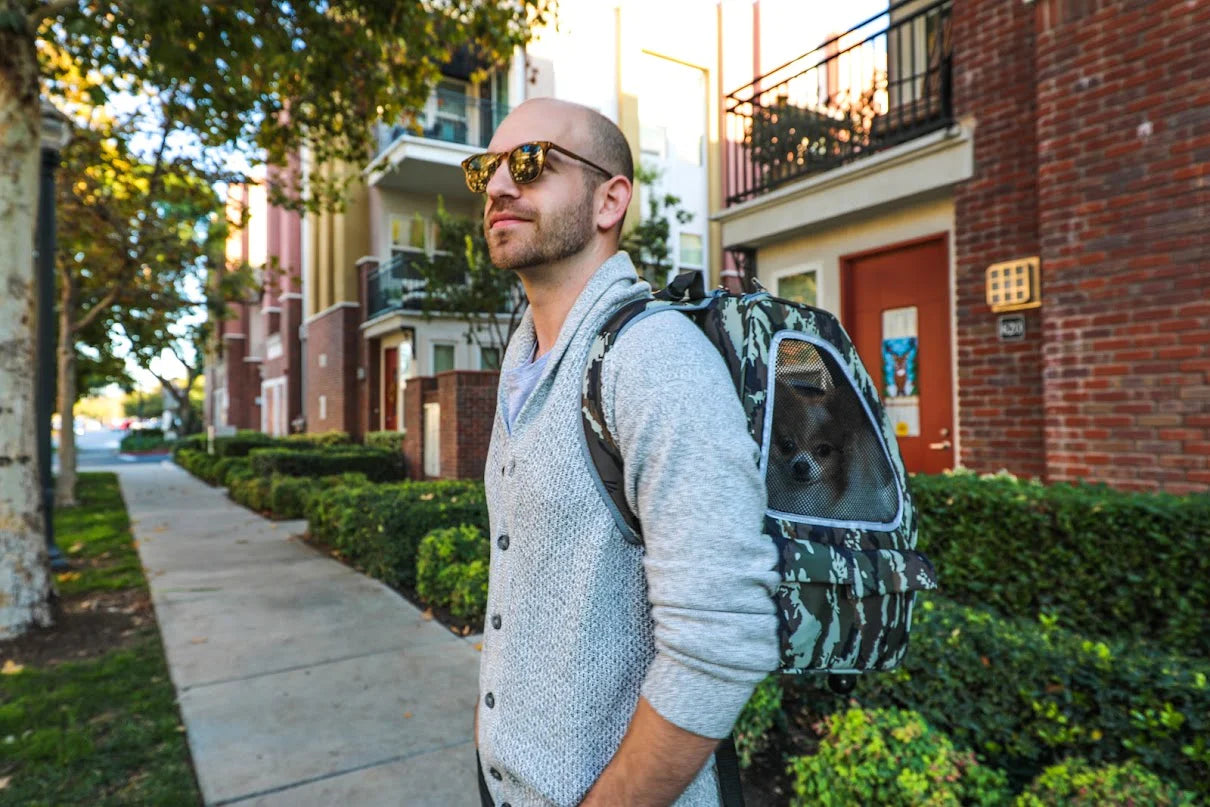
<path fill-rule="evenodd" d="M 705 294 L 685 272 L 655 298 L 621 307 L 584 371 L 584 440 L 594 480 L 632 543 L 622 455 L 605 427 L 601 367 L 632 324 L 664 309 L 691 317 L 719 350 L 761 446 L 765 532 L 778 548 L 780 671 L 826 673 L 847 692 L 855 674 L 897 667 L 915 593 L 937 587 L 916 552 L 916 512 L 878 392 L 832 315 L 759 290 Z"/>

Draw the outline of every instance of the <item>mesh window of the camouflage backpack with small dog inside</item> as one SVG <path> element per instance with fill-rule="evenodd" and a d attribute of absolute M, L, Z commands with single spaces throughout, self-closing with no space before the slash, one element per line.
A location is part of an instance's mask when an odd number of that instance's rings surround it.
<path fill-rule="evenodd" d="M 794 520 L 889 524 L 899 509 L 877 425 L 826 350 L 778 344 L 766 430 L 768 508 Z"/>

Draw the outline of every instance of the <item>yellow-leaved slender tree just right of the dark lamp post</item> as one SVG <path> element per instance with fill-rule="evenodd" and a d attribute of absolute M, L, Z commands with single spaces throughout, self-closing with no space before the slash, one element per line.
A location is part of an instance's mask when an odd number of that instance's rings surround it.
<path fill-rule="evenodd" d="M 73 411 L 81 344 L 111 354 L 115 333 L 132 319 L 177 309 L 190 278 L 201 282 L 207 234 L 224 209 L 212 177 L 167 155 L 168 127 L 156 132 L 148 162 L 133 154 L 132 132 L 104 110 L 90 111 L 64 152 L 58 180 L 59 507 L 76 503 Z"/>

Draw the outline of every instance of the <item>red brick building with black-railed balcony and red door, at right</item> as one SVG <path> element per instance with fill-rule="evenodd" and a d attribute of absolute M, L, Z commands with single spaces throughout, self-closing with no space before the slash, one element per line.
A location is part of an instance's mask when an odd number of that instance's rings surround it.
<path fill-rule="evenodd" d="M 1206 4 L 898 2 L 730 94 L 724 247 L 875 379 L 911 345 L 912 469 L 1208 490 L 1208 51 Z"/>

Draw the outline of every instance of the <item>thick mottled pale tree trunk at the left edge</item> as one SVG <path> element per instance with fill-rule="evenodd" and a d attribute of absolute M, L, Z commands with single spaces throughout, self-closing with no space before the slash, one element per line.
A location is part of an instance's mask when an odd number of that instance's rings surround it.
<path fill-rule="evenodd" d="M 0 0 L 0 639 L 51 623 L 35 438 L 39 100 L 25 4 Z"/>

